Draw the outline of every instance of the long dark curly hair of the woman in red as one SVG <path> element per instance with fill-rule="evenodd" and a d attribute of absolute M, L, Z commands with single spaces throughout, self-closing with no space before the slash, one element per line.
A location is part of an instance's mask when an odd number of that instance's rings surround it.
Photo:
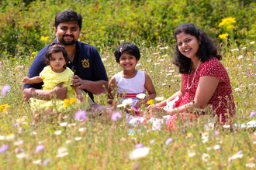
<path fill-rule="evenodd" d="M 222 59 L 222 56 L 218 54 L 218 49 L 209 36 L 206 35 L 205 32 L 202 32 L 201 29 L 197 29 L 192 23 L 185 23 L 182 26 L 179 26 L 174 33 L 175 39 L 177 41 L 177 35 L 180 33 L 190 34 L 191 36 L 195 36 L 195 38 L 199 41 L 199 36 L 202 36 L 201 44 L 199 45 L 199 50 L 196 53 L 196 56 L 201 59 L 202 62 L 207 61 L 212 56 L 217 59 Z M 175 54 L 173 56 L 173 63 L 178 66 L 179 73 L 189 73 L 191 59 L 184 56 L 178 50 L 178 44 L 176 44 Z"/>

